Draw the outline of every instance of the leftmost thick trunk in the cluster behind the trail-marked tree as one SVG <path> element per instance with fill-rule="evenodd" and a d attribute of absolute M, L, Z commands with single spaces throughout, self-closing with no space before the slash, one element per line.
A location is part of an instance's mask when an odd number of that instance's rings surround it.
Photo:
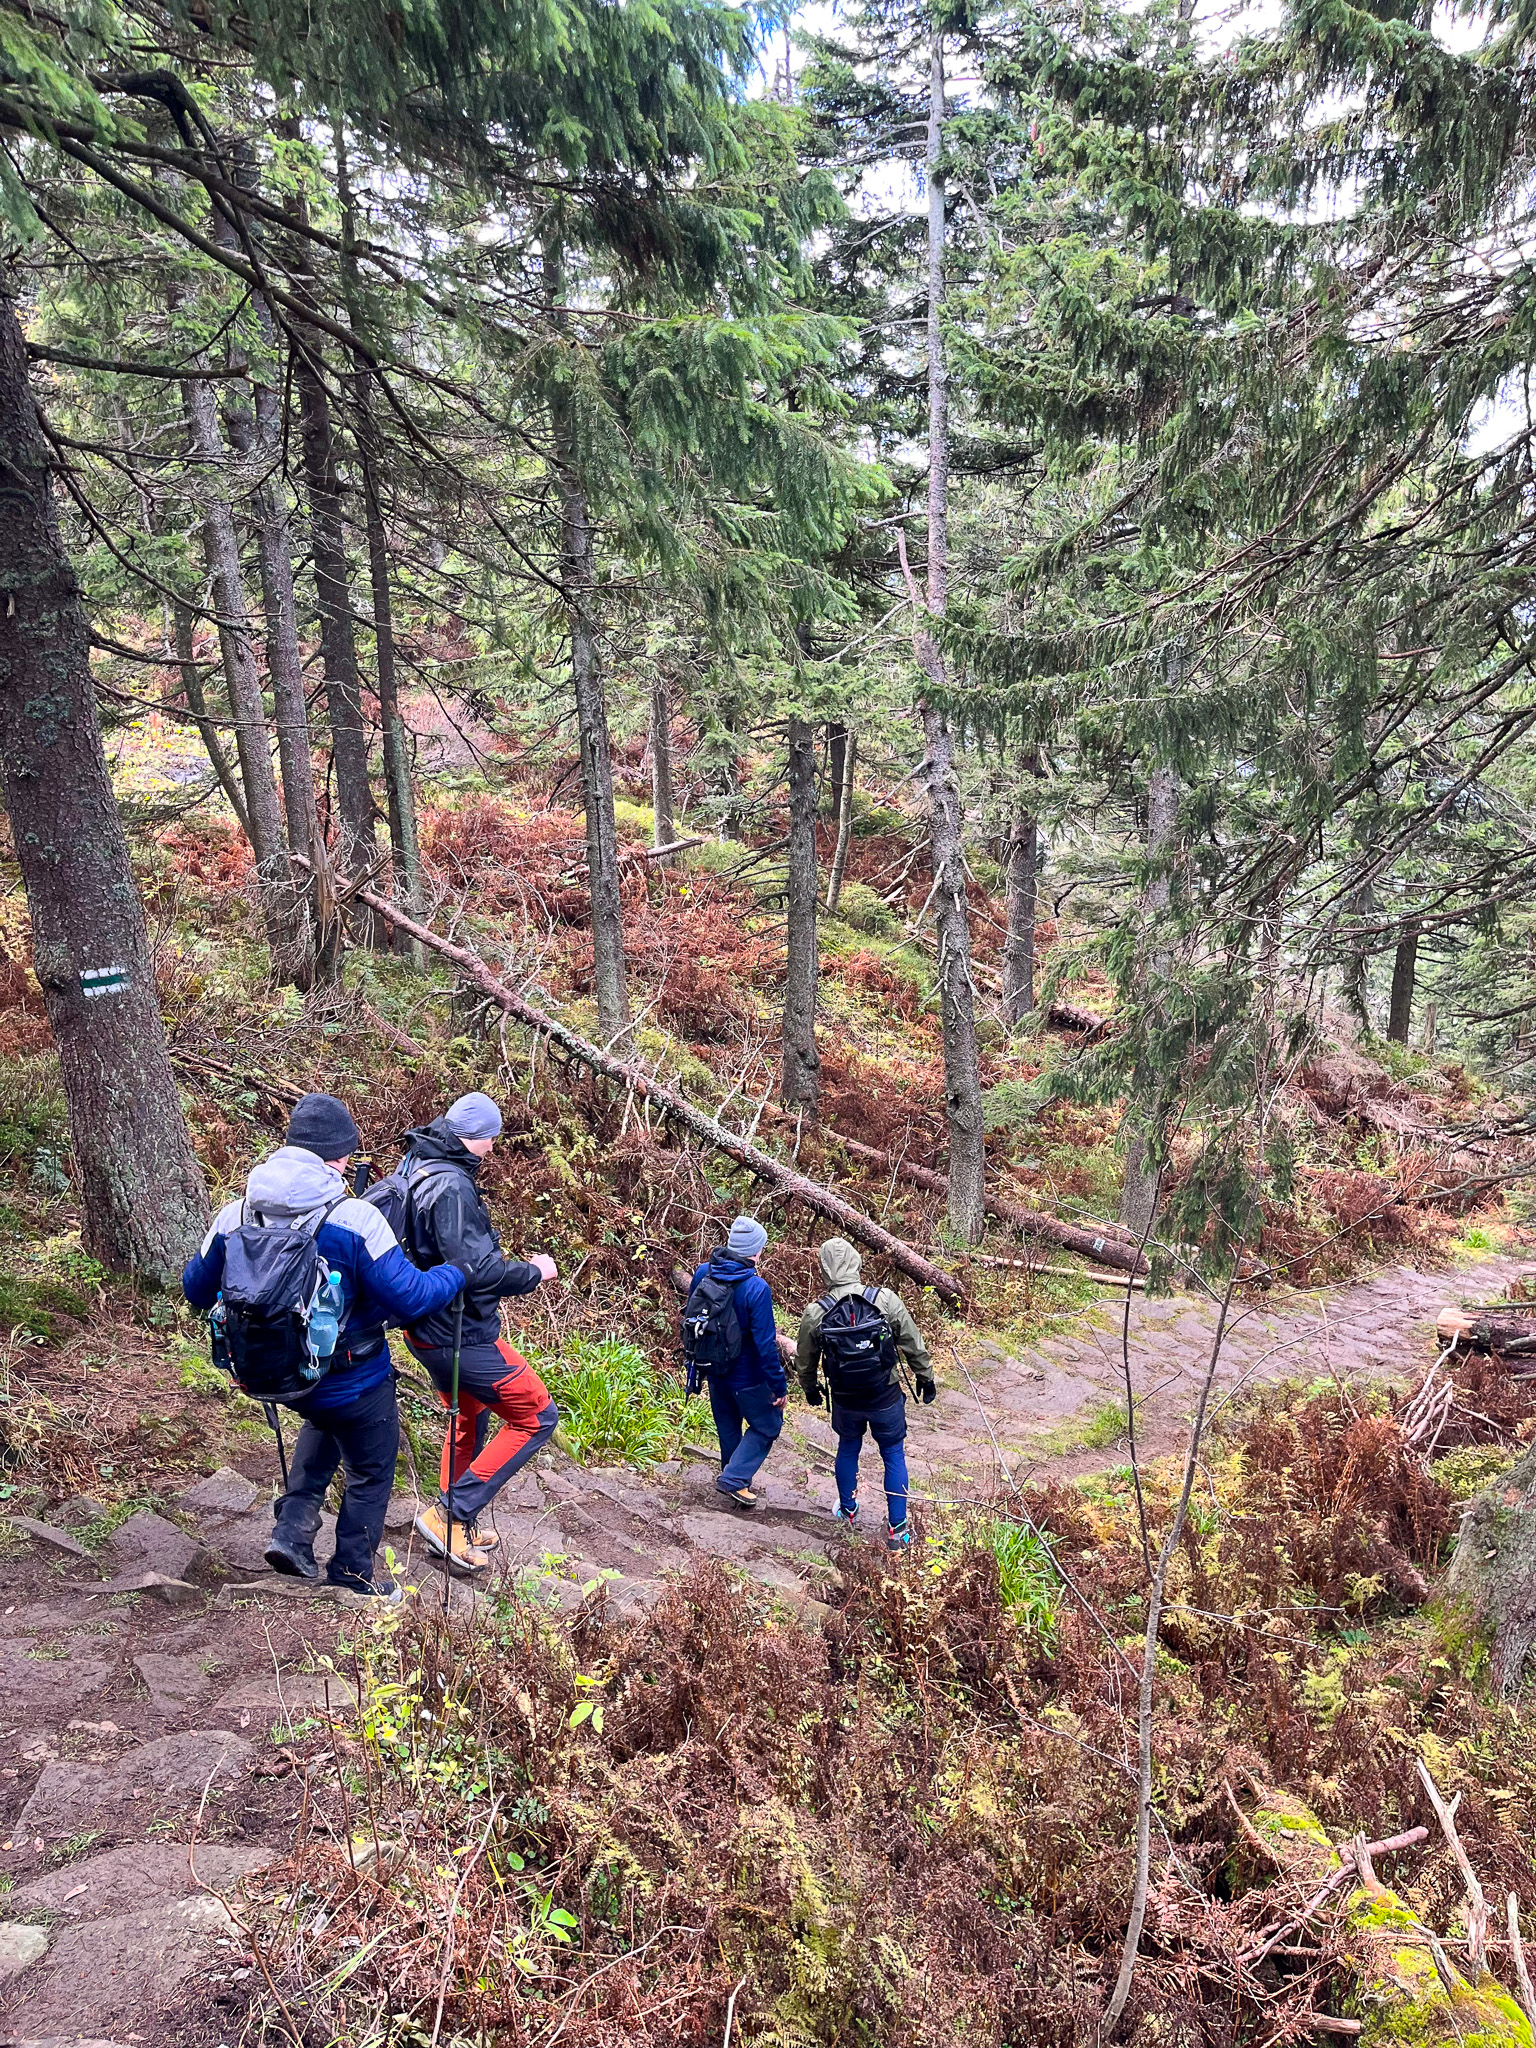
<path fill-rule="evenodd" d="M 219 618 L 219 651 L 229 688 L 229 711 L 236 721 L 236 756 L 246 793 L 246 829 L 256 856 L 256 891 L 262 905 L 272 969 L 283 979 L 303 979 L 299 899 L 293 870 L 283 846 L 283 809 L 272 772 L 272 745 L 266 733 L 266 702 L 256 670 L 256 649 L 246 610 L 246 578 L 240 563 L 240 539 L 231 512 L 229 461 L 219 436 L 219 416 L 213 385 L 205 377 L 182 383 L 186 426 L 193 455 L 199 463 L 199 496 L 203 500 L 203 545 L 213 580 L 213 610 Z"/>

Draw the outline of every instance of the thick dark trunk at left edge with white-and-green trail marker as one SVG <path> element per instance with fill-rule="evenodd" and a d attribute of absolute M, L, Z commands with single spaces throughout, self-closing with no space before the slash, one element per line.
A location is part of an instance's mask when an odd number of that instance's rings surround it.
<path fill-rule="evenodd" d="M 102 756 L 90 633 L 53 471 L 0 293 L 0 754 L 59 1049 L 88 1249 L 166 1286 L 207 1225 L 143 905 Z"/>

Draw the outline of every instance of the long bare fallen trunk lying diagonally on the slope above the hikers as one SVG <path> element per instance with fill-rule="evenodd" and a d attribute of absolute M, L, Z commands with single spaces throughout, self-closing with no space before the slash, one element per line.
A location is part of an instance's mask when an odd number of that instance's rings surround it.
<path fill-rule="evenodd" d="M 504 981 L 496 979 L 479 954 L 471 952 L 467 946 L 455 946 L 451 940 L 438 938 L 436 932 L 418 924 L 416 918 L 410 918 L 403 909 L 399 909 L 399 905 L 391 903 L 389 897 L 381 897 L 373 889 L 358 889 L 356 895 L 369 905 L 369 909 L 377 911 L 387 924 L 393 924 L 395 930 L 408 932 L 430 952 L 440 952 L 444 961 L 453 961 L 455 967 L 459 967 L 463 975 L 481 991 L 481 995 L 487 995 L 500 1010 L 506 1010 L 508 1016 L 526 1024 L 528 1030 L 539 1032 L 541 1038 L 557 1044 L 571 1059 L 580 1059 L 584 1067 L 590 1067 L 604 1079 L 633 1090 L 643 1102 L 655 1102 L 666 1116 L 672 1116 L 684 1130 L 692 1130 L 692 1135 L 702 1139 L 705 1145 L 715 1147 L 715 1151 L 723 1151 L 727 1159 L 735 1159 L 737 1165 L 756 1174 L 758 1180 L 766 1180 L 770 1188 L 778 1188 L 780 1194 L 786 1194 L 791 1200 L 805 1202 L 805 1206 L 813 1208 L 819 1217 L 827 1217 L 831 1223 L 838 1223 L 860 1245 L 868 1245 L 870 1251 L 881 1251 L 920 1286 L 934 1288 L 934 1292 L 942 1294 L 946 1300 L 961 1300 L 961 1284 L 954 1274 L 944 1272 L 942 1266 L 934 1266 L 932 1260 L 913 1251 L 913 1247 L 903 1243 L 899 1237 L 891 1237 L 891 1233 L 881 1229 L 881 1225 L 874 1223 L 872 1217 L 866 1217 L 862 1208 L 854 1208 L 850 1202 L 844 1202 L 840 1194 L 834 1194 L 831 1188 L 823 1188 L 821 1182 L 807 1180 L 805 1174 L 797 1174 L 770 1153 L 760 1151 L 745 1139 L 735 1137 L 735 1133 L 727 1130 L 725 1124 L 717 1124 L 713 1116 L 694 1108 L 686 1096 L 680 1096 L 664 1081 L 653 1079 L 641 1067 L 631 1065 L 631 1061 L 616 1059 L 612 1053 L 604 1053 L 602 1047 L 578 1036 L 578 1032 L 569 1030 L 569 1026 L 551 1018 L 547 1010 L 539 1010 L 535 1004 L 524 1001 L 522 995 L 516 995 Z"/>

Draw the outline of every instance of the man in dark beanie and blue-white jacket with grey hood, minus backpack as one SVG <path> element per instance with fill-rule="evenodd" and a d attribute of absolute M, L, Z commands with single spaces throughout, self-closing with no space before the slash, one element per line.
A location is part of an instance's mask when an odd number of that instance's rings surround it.
<path fill-rule="evenodd" d="M 182 1272 L 182 1292 L 195 1309 L 211 1309 L 223 1284 L 225 1237 L 242 1223 L 270 1229 L 313 1229 L 315 1251 L 340 1274 L 342 1333 L 334 1364 L 313 1393 L 285 1403 L 303 1417 L 289 1464 L 289 1489 L 272 1509 L 266 1563 L 293 1579 L 317 1579 L 315 1530 L 336 1466 L 346 1468 L 346 1493 L 336 1518 L 330 1583 L 367 1599 L 399 1599 L 399 1587 L 379 1575 L 385 1507 L 395 1483 L 399 1407 L 395 1370 L 383 1335 L 385 1317 L 403 1323 L 442 1309 L 463 1288 L 457 1266 L 418 1272 L 395 1233 L 371 1202 L 346 1192 L 346 1167 L 358 1149 L 358 1128 L 336 1096 L 303 1096 L 289 1118 L 289 1141 L 252 1167 L 246 1194 L 225 1202 Z M 356 1339 L 348 1329 L 356 1323 Z"/>

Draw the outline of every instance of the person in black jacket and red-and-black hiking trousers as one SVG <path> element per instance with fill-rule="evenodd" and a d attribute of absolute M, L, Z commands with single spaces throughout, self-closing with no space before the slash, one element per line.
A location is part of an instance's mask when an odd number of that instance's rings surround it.
<path fill-rule="evenodd" d="M 422 1542 L 436 1556 L 449 1554 L 449 1503 L 453 1503 L 453 1559 L 481 1571 L 500 1542 L 479 1526 L 500 1489 L 537 1456 L 555 1434 L 559 1409 L 526 1358 L 502 1337 L 502 1298 L 532 1294 L 541 1280 L 555 1280 L 555 1262 L 537 1251 L 530 1260 L 502 1257 L 477 1186 L 481 1161 L 502 1133 L 502 1112 L 489 1096 L 471 1094 L 434 1122 L 406 1135 L 401 1171 L 410 1188 L 410 1249 L 418 1266 L 463 1268 L 463 1343 L 459 1350 L 459 1427 L 442 1446 L 442 1493 L 416 1516 Z M 442 1403 L 453 1384 L 455 1309 L 408 1323 L 406 1341 L 432 1374 Z M 502 1427 L 485 1442 L 492 1415 Z"/>

